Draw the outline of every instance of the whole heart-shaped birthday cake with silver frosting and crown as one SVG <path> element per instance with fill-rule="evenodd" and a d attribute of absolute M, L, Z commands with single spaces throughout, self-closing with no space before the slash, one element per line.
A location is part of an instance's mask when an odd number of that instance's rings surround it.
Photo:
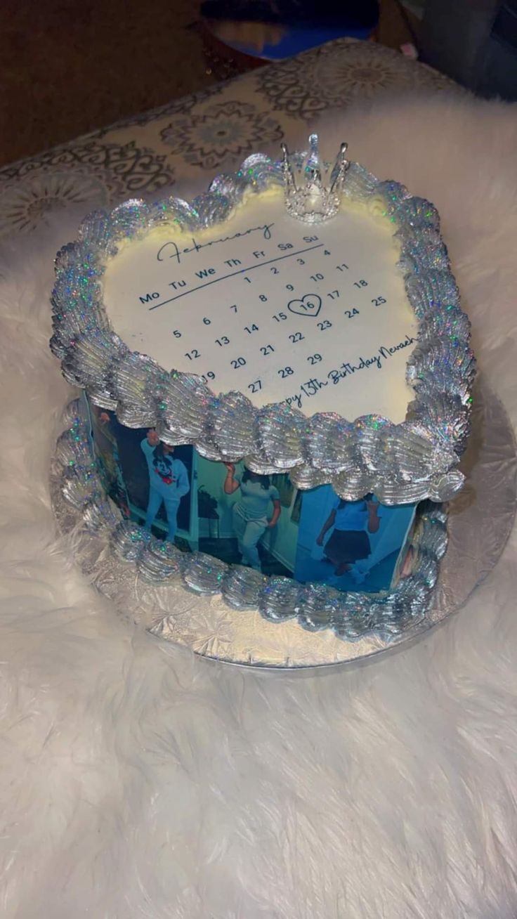
<path fill-rule="evenodd" d="M 143 582 L 350 637 L 425 615 L 475 361 L 433 205 L 345 153 L 89 215 L 51 349 L 85 528 Z"/>

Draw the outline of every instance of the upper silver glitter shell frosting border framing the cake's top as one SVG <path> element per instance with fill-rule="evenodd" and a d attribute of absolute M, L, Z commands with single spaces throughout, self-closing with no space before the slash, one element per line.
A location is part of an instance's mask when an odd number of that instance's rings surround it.
<path fill-rule="evenodd" d="M 476 372 L 470 323 L 459 305 L 436 209 L 398 182 L 379 181 L 353 163 L 343 198 L 393 224 L 399 270 L 418 320 L 406 369 L 415 395 L 401 424 L 376 414 L 353 421 L 334 413 L 306 417 L 284 403 L 256 408 L 238 391 L 216 395 L 200 377 L 169 372 L 131 352 L 111 328 L 103 274 L 118 244 L 157 226 L 210 227 L 253 194 L 281 184 L 281 164 L 255 153 L 190 203 L 134 199 L 109 213 L 90 214 L 77 240 L 55 260 L 51 350 L 65 379 L 114 411 L 122 425 L 156 427 L 165 443 L 192 444 L 207 459 L 244 459 L 264 474 L 289 471 L 300 489 L 330 483 L 346 500 L 372 492 L 387 505 L 449 500 L 464 483 L 457 464 L 466 446 Z"/>

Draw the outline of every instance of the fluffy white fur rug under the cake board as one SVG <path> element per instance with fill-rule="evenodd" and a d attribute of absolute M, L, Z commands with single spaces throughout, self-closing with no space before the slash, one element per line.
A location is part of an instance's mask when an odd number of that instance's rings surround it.
<path fill-rule="evenodd" d="M 441 210 L 480 366 L 516 423 L 516 108 L 406 98 L 337 121 L 327 141 Z M 511 919 L 517 539 L 443 628 L 352 670 L 247 672 L 132 630 L 49 502 L 71 393 L 48 293 L 77 217 L 2 255 L 0 913 Z"/>

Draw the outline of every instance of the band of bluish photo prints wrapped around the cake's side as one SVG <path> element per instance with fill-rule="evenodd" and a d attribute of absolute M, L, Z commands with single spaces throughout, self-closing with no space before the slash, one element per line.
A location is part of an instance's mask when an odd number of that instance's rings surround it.
<path fill-rule="evenodd" d="M 185 552 L 301 584 L 382 593 L 410 565 L 415 505 L 368 494 L 344 501 L 322 485 L 294 487 L 288 472 L 260 475 L 243 462 L 170 447 L 154 428 L 120 425 L 91 406 L 97 469 L 123 516 Z"/>

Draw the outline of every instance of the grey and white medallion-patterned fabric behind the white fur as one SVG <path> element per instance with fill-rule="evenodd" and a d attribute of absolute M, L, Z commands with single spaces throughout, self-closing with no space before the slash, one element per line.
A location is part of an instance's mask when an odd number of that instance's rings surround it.
<path fill-rule="evenodd" d="M 0 170 L 0 234 L 34 229 L 52 209 L 84 211 L 156 199 L 179 180 L 230 170 L 252 151 L 278 151 L 300 122 L 386 89 L 455 87 L 374 42 L 340 39 L 194 96 L 119 121 Z M 455 87 L 461 92 L 459 87 Z"/>

